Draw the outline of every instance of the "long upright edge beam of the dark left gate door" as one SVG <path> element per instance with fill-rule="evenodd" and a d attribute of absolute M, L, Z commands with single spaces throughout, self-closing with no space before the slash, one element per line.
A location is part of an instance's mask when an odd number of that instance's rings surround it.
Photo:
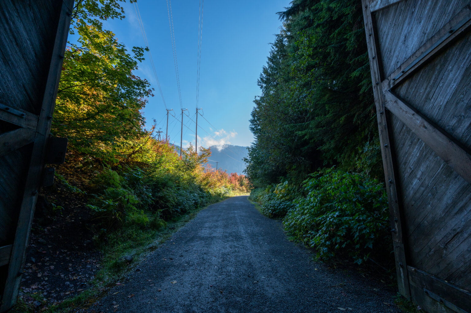
<path fill-rule="evenodd" d="M 36 128 L 36 137 L 32 147 L 32 158 L 29 164 L 25 180 L 24 193 L 19 211 L 18 224 L 16 227 L 15 241 L 8 265 L 8 276 L 3 291 L 0 312 L 10 309 L 16 303 L 18 289 L 21 281 L 21 268 L 24 265 L 26 247 L 29 240 L 34 207 L 37 194 L 40 189 L 41 176 L 44 170 L 44 155 L 46 143 L 50 132 L 51 119 L 56 104 L 57 88 L 59 85 L 60 72 L 69 33 L 70 20 L 72 16 L 74 0 L 62 0 L 56 32 L 54 48 L 52 49 L 49 63 L 48 77 L 42 98 L 41 114 Z M 55 17 L 55 16 L 54 16 Z"/>

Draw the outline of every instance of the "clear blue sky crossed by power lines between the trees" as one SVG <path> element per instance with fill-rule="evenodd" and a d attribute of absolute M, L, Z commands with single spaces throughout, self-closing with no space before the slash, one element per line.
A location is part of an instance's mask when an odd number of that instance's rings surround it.
<path fill-rule="evenodd" d="M 200 0 L 171 2 L 178 60 L 182 107 L 195 120 Z M 198 146 L 213 144 L 250 145 L 250 113 L 254 96 L 260 95 L 257 79 L 266 64 L 270 42 L 280 31 L 276 12 L 289 6 L 289 0 L 205 0 L 198 107 Z M 144 47 L 138 18 L 132 4 L 124 3 L 126 19 L 106 21 L 105 29 L 116 34 L 129 47 Z M 166 0 L 139 0 L 138 8 L 149 42 L 155 70 L 165 103 L 178 118 L 169 118 L 171 142 L 180 142 L 180 101 L 173 60 Z M 144 115 L 155 119 L 165 136 L 166 111 L 157 88 L 149 57 L 136 75 L 149 80 L 155 88 Z M 195 123 L 184 116 L 183 141 L 195 144 Z M 204 130 L 203 130 L 204 129 Z M 209 134 L 208 134 L 209 133 Z M 210 136 L 211 135 L 211 136 Z"/>

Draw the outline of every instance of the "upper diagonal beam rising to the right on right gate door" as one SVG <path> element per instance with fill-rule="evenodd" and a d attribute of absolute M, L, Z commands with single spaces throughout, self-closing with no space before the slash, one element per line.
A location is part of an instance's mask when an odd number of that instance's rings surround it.
<path fill-rule="evenodd" d="M 390 90 L 414 73 L 470 26 L 471 8 L 466 6 L 381 82 L 383 92 Z"/>

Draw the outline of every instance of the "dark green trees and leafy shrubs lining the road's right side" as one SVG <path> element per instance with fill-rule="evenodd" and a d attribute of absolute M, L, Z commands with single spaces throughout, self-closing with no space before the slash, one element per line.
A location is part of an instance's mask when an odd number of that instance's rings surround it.
<path fill-rule="evenodd" d="M 260 74 L 250 121 L 250 199 L 283 219 L 291 238 L 313 248 L 318 260 L 390 264 L 361 3 L 293 0 L 278 15 L 283 27 Z"/>

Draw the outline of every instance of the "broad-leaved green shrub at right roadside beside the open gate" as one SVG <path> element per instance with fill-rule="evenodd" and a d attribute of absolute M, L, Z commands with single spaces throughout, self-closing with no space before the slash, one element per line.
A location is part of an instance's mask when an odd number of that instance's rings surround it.
<path fill-rule="evenodd" d="M 329 169 L 304 182 L 305 197 L 294 201 L 284 225 L 318 259 L 348 252 L 361 264 L 390 242 L 386 192 L 376 179 Z M 389 248 L 389 247 L 387 247 Z M 386 248 L 386 249 L 387 249 Z"/>

